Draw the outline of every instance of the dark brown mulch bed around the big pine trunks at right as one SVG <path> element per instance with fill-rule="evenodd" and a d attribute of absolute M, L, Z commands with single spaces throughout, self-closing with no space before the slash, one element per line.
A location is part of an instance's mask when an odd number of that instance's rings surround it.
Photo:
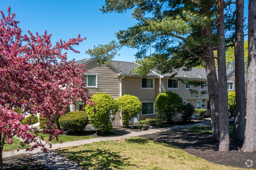
<path fill-rule="evenodd" d="M 140 137 L 178 146 L 189 154 L 219 165 L 247 168 L 245 162 L 250 159 L 253 161 L 251 168 L 256 168 L 256 152 L 250 153 L 241 151 L 243 140 L 230 139 L 230 151 L 219 152 L 219 142 L 211 137 L 211 133 L 171 130 L 141 135 Z"/>

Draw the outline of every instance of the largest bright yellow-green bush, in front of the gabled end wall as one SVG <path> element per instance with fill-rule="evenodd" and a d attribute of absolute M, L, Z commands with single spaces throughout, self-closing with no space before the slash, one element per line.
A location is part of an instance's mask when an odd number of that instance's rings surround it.
<path fill-rule="evenodd" d="M 119 110 L 119 104 L 113 97 L 106 93 L 96 93 L 92 96 L 93 106 L 87 104 L 84 108 L 93 127 L 102 133 L 110 132 L 113 128 L 115 114 Z"/>

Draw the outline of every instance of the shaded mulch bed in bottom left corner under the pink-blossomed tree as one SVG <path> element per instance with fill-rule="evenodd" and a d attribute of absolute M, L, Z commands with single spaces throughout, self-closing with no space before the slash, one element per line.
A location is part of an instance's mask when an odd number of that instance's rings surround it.
<path fill-rule="evenodd" d="M 4 170 L 50 170 L 28 154 L 4 158 Z"/>

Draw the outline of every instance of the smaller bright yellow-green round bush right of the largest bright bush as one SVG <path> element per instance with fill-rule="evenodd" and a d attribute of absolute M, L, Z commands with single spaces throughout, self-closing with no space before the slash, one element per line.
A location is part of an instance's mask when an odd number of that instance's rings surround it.
<path fill-rule="evenodd" d="M 122 122 L 128 127 L 132 116 L 142 110 L 142 104 L 138 97 L 133 95 L 123 95 L 117 99 L 122 109 Z"/>

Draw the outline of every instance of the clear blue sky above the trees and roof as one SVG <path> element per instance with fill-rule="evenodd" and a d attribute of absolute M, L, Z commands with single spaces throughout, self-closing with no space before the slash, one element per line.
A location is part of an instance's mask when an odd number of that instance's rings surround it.
<path fill-rule="evenodd" d="M 127 29 L 136 22 L 132 18 L 132 11 L 124 14 L 102 14 L 99 9 L 103 4 L 104 1 L 101 0 L 2 0 L 0 10 L 6 13 L 10 5 L 24 33 L 30 30 L 32 33 L 38 31 L 42 35 L 47 30 L 52 34 L 53 43 L 60 38 L 76 38 L 79 33 L 82 37 L 87 37 L 75 47 L 80 54 L 68 51 L 68 60 L 73 57 L 81 60 L 89 57 L 85 54 L 87 49 L 92 49 L 97 44 L 107 44 L 116 39 L 117 31 Z M 248 0 L 245 0 L 245 17 L 248 17 Z M 136 51 L 122 48 L 119 51 L 120 56 L 114 60 L 132 62 L 135 60 Z"/>

